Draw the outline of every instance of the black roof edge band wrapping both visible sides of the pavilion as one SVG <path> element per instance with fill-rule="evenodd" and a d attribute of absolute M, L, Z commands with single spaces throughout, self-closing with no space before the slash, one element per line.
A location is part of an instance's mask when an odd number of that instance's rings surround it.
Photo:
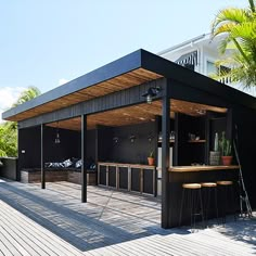
<path fill-rule="evenodd" d="M 9 117 L 20 113 L 26 112 L 44 103 L 52 102 L 64 95 L 72 94 L 81 89 L 94 86 L 99 82 L 120 76 L 140 67 L 159 74 L 163 77 L 182 82 L 185 86 L 218 95 L 229 102 L 242 104 L 256 110 L 256 100 L 254 97 L 222 85 L 204 75 L 184 68 L 149 51 L 140 49 L 93 72 L 68 81 L 63 86 L 54 88 L 53 90 L 50 90 L 29 102 L 25 102 L 24 104 L 4 112 L 2 114 L 2 118 L 8 119 Z M 38 114 L 38 116 L 40 114 Z"/>

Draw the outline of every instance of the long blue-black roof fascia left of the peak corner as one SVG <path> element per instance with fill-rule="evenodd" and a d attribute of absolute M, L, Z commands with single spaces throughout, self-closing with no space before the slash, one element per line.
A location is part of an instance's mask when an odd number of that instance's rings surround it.
<path fill-rule="evenodd" d="M 76 91 L 91 87 L 110 78 L 114 78 L 121 74 L 137 69 L 141 67 L 142 51 L 142 49 L 137 50 L 86 75 L 71 80 L 63 86 L 56 87 L 28 102 L 25 102 L 21 105 L 17 105 L 16 107 L 5 111 L 4 113 L 2 113 L 2 118 L 5 119 L 8 117 L 14 116 L 36 106 L 54 101 L 61 97 L 74 93 Z"/>

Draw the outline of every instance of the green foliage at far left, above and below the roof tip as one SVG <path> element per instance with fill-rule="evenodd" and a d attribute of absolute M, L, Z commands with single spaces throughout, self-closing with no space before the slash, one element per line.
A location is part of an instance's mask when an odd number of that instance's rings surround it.
<path fill-rule="evenodd" d="M 24 90 L 12 107 L 29 101 L 40 94 L 36 87 Z M 0 124 L 0 156 L 17 156 L 17 124 L 5 121 Z"/>

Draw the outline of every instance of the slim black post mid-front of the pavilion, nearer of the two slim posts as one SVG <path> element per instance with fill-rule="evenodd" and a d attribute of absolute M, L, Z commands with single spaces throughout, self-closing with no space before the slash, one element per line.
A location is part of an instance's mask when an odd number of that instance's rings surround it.
<path fill-rule="evenodd" d="M 81 115 L 81 203 L 87 202 L 87 116 Z"/>

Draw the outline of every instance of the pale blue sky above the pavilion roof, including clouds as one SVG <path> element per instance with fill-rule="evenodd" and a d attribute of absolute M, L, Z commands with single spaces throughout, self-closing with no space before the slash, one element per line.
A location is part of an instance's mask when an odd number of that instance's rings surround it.
<path fill-rule="evenodd" d="M 28 86 L 46 92 L 140 48 L 208 33 L 226 7 L 247 0 L 1 0 L 0 110 Z"/>

